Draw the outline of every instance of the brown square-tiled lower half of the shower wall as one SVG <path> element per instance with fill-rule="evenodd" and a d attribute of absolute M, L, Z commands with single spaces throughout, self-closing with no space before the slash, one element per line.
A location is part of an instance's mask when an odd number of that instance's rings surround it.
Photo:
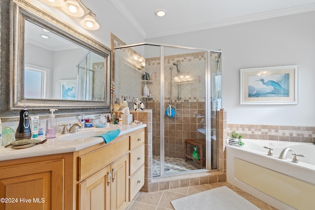
<path fill-rule="evenodd" d="M 160 109 L 158 102 L 147 102 L 152 110 L 152 150 L 154 155 L 160 154 Z M 167 104 L 165 104 L 165 107 Z M 164 112 L 164 110 L 162 110 Z M 176 105 L 173 118 L 164 115 L 164 149 L 165 156 L 185 158 L 184 140 L 188 138 L 205 139 L 198 128 L 204 127 L 205 102 L 182 102 Z"/>

